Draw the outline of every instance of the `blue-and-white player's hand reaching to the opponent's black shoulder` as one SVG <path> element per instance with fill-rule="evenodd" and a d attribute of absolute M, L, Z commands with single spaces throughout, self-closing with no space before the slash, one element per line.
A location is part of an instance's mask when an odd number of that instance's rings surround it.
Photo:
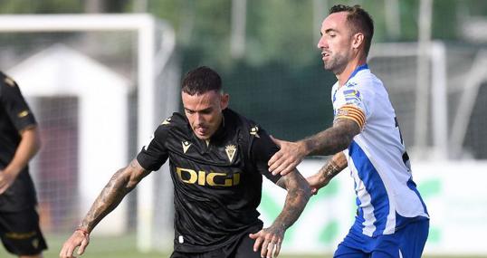
<path fill-rule="evenodd" d="M 267 165 L 272 175 L 281 174 L 285 176 L 301 163 L 302 158 L 306 156 L 304 147 L 301 142 L 291 142 L 281 139 L 275 139 L 271 136 L 271 139 L 281 149 L 274 153 Z"/>

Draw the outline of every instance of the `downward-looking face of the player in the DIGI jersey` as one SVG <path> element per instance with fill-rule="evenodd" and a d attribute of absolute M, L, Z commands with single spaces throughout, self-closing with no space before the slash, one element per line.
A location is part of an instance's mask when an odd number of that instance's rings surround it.
<path fill-rule="evenodd" d="M 222 110 L 228 106 L 228 94 L 207 91 L 191 96 L 182 92 L 183 106 L 191 129 L 198 139 L 210 139 L 222 122 Z"/>

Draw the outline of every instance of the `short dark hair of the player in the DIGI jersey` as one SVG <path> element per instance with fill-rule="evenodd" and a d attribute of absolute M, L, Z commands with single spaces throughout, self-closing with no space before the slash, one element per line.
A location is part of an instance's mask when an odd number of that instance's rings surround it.
<path fill-rule="evenodd" d="M 186 73 L 181 91 L 193 96 L 207 91 L 222 91 L 222 79 L 217 72 L 206 66 L 200 66 Z"/>

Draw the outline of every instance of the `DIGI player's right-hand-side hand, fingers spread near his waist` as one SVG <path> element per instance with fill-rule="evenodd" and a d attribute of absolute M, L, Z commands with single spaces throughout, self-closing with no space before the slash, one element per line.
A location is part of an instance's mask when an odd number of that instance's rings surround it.
<path fill-rule="evenodd" d="M 261 257 L 277 257 L 279 252 L 281 252 L 281 244 L 285 231 L 282 226 L 272 225 L 255 234 L 249 234 L 249 237 L 255 240 L 253 252 L 258 252 L 260 249 Z"/>

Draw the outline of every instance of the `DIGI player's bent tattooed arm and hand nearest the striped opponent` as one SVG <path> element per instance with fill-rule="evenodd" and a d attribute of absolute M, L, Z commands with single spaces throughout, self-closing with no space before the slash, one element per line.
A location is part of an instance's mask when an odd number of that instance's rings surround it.
<path fill-rule="evenodd" d="M 310 186 L 299 171 L 281 177 L 276 185 L 287 189 L 288 194 L 282 212 L 272 225 L 249 236 L 255 239 L 253 251 L 261 249 L 262 257 L 277 257 L 286 230 L 296 222 L 311 196 Z M 272 256 L 273 253 L 273 256 Z"/>

